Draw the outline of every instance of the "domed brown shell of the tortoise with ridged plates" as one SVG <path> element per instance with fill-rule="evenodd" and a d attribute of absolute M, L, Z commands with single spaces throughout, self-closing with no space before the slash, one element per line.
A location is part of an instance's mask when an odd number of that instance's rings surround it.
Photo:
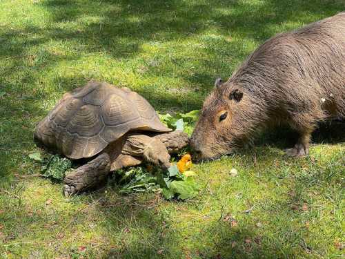
<path fill-rule="evenodd" d="M 128 88 L 90 81 L 66 93 L 37 125 L 34 138 L 71 159 L 92 157 L 128 131 L 171 131 Z"/>

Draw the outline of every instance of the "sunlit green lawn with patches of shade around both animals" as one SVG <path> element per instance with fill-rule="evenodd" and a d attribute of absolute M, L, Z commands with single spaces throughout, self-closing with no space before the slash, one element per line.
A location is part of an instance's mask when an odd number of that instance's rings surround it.
<path fill-rule="evenodd" d="M 32 131 L 90 79 L 127 86 L 157 111 L 201 107 L 278 32 L 335 15 L 343 0 L 0 0 L 0 258 L 340 258 L 344 125 L 284 157 L 291 134 L 193 171 L 186 202 L 107 184 L 66 200 L 37 177 Z M 237 177 L 230 169 L 239 171 Z"/>

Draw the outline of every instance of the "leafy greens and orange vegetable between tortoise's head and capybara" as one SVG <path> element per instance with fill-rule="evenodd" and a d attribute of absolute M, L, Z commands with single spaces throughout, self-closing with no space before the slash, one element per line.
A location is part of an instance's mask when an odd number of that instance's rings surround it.
<path fill-rule="evenodd" d="M 177 113 L 172 116 L 169 113 L 159 115 L 161 122 L 174 130 L 184 131 L 189 135 L 193 132 L 193 126 L 199 117 L 199 111 L 191 111 L 190 113 Z M 179 160 L 172 163 L 168 171 L 159 168 L 152 169 L 152 166 L 137 166 L 130 169 L 117 171 L 120 175 L 119 184 L 121 186 L 120 193 L 133 193 L 141 191 L 159 191 L 166 200 L 177 198 L 186 200 L 194 198 L 199 186 L 195 181 L 197 174 L 190 171 L 192 167 L 192 157 L 186 150 L 179 154 Z M 116 175 L 115 175 L 116 176 Z"/>

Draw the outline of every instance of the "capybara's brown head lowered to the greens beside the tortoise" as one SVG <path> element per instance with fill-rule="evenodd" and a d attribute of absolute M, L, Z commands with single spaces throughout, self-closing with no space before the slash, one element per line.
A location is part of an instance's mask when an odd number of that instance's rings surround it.
<path fill-rule="evenodd" d="M 255 106 L 245 88 L 217 79 L 190 140 L 195 155 L 205 160 L 233 151 L 255 128 Z"/>

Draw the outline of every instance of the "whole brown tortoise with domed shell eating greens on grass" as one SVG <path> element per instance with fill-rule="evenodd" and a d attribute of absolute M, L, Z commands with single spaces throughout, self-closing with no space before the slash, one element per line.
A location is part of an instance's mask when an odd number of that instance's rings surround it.
<path fill-rule="evenodd" d="M 63 180 L 69 196 L 143 160 L 168 169 L 169 153 L 184 148 L 188 135 L 167 128 L 148 101 L 129 88 L 89 81 L 63 95 L 37 124 L 34 140 L 72 160 L 88 159 Z"/>

